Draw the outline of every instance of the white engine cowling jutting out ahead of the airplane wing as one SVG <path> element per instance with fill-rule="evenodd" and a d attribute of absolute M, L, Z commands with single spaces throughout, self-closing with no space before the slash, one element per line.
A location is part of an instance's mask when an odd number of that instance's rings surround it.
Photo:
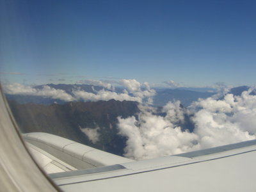
<path fill-rule="evenodd" d="M 45 132 L 23 134 L 23 137 L 28 142 L 32 155 L 47 173 L 133 162 L 131 159 Z"/>

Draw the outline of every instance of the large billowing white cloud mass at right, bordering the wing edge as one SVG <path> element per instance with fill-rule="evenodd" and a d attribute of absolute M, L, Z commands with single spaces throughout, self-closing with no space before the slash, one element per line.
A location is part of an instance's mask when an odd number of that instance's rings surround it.
<path fill-rule="evenodd" d="M 251 90 L 250 90 L 251 91 Z M 184 109 L 178 102 L 164 106 L 164 116 L 152 108 L 141 109 L 138 118 L 118 118 L 118 129 L 127 137 L 125 156 L 149 159 L 216 147 L 256 138 L 256 96 L 225 95 L 223 100 L 200 99 Z M 191 115 L 193 132 L 182 131 L 180 122 Z"/>

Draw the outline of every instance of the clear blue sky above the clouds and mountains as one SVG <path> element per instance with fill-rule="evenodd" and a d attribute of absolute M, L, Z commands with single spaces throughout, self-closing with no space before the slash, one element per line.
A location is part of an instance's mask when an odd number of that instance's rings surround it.
<path fill-rule="evenodd" d="M 255 84 L 256 1 L 1 0 L 1 79 Z"/>

